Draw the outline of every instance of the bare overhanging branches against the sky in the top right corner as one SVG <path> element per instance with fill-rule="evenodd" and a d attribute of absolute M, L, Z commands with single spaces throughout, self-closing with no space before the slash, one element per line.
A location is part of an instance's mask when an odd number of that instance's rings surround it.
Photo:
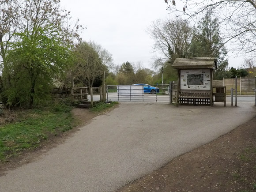
<path fill-rule="evenodd" d="M 233 51 L 256 56 L 256 1 L 255 0 L 165 0 L 170 12 L 187 15 L 188 21 L 201 14 L 218 15 L 224 34 L 224 44 L 233 43 Z"/>

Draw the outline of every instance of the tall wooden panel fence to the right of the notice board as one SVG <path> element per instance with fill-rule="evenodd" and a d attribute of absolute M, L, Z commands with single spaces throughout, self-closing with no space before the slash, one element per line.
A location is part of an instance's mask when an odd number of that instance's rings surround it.
<path fill-rule="evenodd" d="M 231 88 L 235 89 L 236 79 L 222 79 L 214 80 L 213 86 L 226 86 L 226 91 L 230 92 Z M 254 92 L 255 87 L 255 78 L 238 78 L 237 79 L 237 92 L 248 93 Z"/>

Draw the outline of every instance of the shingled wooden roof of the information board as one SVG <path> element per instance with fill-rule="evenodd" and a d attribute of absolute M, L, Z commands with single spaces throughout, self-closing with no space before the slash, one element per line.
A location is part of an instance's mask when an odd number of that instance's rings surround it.
<path fill-rule="evenodd" d="M 212 57 L 177 58 L 172 66 L 176 69 L 217 69 L 217 59 Z"/>

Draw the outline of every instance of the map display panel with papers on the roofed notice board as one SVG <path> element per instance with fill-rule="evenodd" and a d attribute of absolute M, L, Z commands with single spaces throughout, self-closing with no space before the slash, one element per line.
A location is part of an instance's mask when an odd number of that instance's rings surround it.
<path fill-rule="evenodd" d="M 211 69 L 182 69 L 181 89 L 211 90 Z"/>

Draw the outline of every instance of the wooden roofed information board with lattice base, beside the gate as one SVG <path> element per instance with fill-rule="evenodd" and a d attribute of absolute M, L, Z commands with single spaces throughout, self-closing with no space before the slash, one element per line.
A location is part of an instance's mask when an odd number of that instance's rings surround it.
<path fill-rule="evenodd" d="M 213 104 L 212 81 L 216 64 L 217 60 L 211 57 L 177 58 L 174 61 L 172 66 L 179 75 L 176 106 Z"/>

